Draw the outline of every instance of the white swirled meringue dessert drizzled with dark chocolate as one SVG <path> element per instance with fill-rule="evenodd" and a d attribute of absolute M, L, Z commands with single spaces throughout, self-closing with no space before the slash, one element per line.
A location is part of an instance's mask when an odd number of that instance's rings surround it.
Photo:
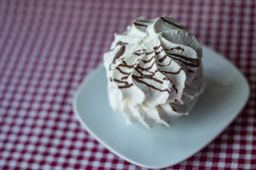
<path fill-rule="evenodd" d="M 204 89 L 202 49 L 171 16 L 137 18 L 104 55 L 110 105 L 127 123 L 171 125 Z"/>

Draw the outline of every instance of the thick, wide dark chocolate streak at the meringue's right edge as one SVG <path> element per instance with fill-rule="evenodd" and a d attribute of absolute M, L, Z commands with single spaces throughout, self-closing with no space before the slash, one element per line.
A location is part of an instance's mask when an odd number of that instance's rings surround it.
<path fill-rule="evenodd" d="M 169 52 L 166 52 L 166 53 L 172 59 L 178 60 L 178 61 L 182 62 L 183 64 L 186 64 L 186 65 L 191 66 L 191 67 L 199 67 L 199 60 L 198 59 L 188 58 L 188 57 L 183 56 L 183 55 L 172 54 L 172 53 L 169 53 Z"/>

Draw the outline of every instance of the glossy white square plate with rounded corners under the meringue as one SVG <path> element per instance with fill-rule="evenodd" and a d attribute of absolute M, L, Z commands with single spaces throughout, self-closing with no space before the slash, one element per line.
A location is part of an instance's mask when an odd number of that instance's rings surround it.
<path fill-rule="evenodd" d="M 146 168 L 164 168 L 191 157 L 208 145 L 240 113 L 249 96 L 245 77 L 223 57 L 203 47 L 206 89 L 188 116 L 171 128 L 127 125 L 107 98 L 107 78 L 99 67 L 80 87 L 74 110 L 82 125 L 119 157 Z"/>

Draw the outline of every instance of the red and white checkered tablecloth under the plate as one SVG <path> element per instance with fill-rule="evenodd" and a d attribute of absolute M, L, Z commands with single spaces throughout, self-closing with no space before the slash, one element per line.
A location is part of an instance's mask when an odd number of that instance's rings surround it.
<path fill-rule="evenodd" d="M 143 169 L 98 143 L 75 91 L 134 18 L 174 16 L 233 62 L 250 99 L 228 128 L 168 169 L 256 169 L 256 1 L 0 0 L 0 169 Z"/>

